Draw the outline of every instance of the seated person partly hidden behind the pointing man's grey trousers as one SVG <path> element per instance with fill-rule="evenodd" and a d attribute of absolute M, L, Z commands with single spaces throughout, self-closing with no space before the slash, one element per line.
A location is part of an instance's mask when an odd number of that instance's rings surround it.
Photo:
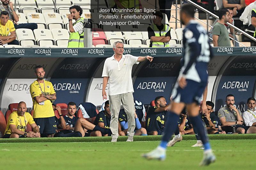
<path fill-rule="evenodd" d="M 138 119 L 138 116 L 134 110 L 134 118 L 135 118 L 135 130 L 134 130 L 134 135 L 135 136 L 147 136 L 147 131 L 145 128 L 141 127 L 140 121 Z M 127 115 L 124 111 L 124 109 L 121 109 L 119 112 L 118 120 L 122 126 L 122 131 L 124 131 L 125 135 L 127 135 L 128 131 L 128 119 Z"/>

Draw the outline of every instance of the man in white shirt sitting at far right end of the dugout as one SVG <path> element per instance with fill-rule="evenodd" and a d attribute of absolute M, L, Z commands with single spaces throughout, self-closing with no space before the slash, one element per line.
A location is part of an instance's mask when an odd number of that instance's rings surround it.
<path fill-rule="evenodd" d="M 247 106 L 248 109 L 243 113 L 244 124 L 246 126 L 256 126 L 255 98 L 248 98 Z"/>

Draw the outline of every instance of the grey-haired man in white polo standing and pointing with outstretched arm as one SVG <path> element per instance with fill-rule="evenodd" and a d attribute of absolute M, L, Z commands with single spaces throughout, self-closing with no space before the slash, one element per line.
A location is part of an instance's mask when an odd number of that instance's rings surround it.
<path fill-rule="evenodd" d="M 111 111 L 110 130 L 112 132 L 111 142 L 116 142 L 118 138 L 118 115 L 121 103 L 124 106 L 128 119 L 128 139 L 127 142 L 133 141 L 135 119 L 134 119 L 134 101 L 132 93 L 132 66 L 139 64 L 141 61 L 152 61 L 153 57 L 135 57 L 130 54 L 123 55 L 124 43 L 116 41 L 113 44 L 115 54 L 105 60 L 102 77 L 102 97 L 107 99 L 105 91 L 109 79 L 109 106 Z"/>

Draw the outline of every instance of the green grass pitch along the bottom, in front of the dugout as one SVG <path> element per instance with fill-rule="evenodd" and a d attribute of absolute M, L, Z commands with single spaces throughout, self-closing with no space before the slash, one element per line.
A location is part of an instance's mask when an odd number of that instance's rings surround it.
<path fill-rule="evenodd" d="M 241 135 L 225 136 L 241 137 Z M 244 135 L 244 138 L 255 138 L 255 136 Z M 193 135 L 192 137 L 194 138 Z M 126 138 L 118 139 L 125 141 Z M 87 140 L 93 139 L 97 138 L 87 138 Z M 142 153 L 154 149 L 159 141 L 74 143 L 67 142 L 65 138 L 58 138 L 59 142 L 50 142 L 47 138 L 43 140 L 45 140 L 44 143 L 39 143 L 40 141 L 37 141 L 38 143 L 2 143 L 6 142 L 6 139 L 1 139 L 0 169 L 205 169 L 198 166 L 203 157 L 203 150 L 191 147 L 196 140 L 183 140 L 173 147 L 168 147 L 165 161 L 146 160 L 140 157 Z M 217 161 L 207 166 L 207 169 L 255 168 L 255 139 L 222 139 L 211 140 L 210 143 Z"/>

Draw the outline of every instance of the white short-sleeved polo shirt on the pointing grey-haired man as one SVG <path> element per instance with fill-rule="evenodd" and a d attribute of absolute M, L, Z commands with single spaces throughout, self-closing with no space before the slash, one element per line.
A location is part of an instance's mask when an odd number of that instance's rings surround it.
<path fill-rule="evenodd" d="M 115 54 L 114 54 L 115 55 Z M 114 55 L 105 60 L 102 77 L 109 77 L 108 95 L 120 95 L 134 92 L 132 85 L 132 66 L 139 64 L 139 57 L 130 54 L 123 55 L 118 62 Z"/>

